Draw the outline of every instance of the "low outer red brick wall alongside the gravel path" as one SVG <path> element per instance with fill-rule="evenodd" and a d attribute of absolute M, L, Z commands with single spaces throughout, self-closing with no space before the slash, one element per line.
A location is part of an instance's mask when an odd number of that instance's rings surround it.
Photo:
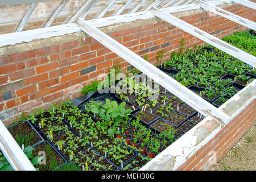
<path fill-rule="evenodd" d="M 191 156 L 178 170 L 209 170 L 212 165 L 208 160 L 212 151 L 216 152 L 217 161 L 228 152 L 234 144 L 249 130 L 255 123 L 256 99 L 241 111 L 232 121 L 218 132 L 214 138 L 201 147 L 196 154 Z"/>

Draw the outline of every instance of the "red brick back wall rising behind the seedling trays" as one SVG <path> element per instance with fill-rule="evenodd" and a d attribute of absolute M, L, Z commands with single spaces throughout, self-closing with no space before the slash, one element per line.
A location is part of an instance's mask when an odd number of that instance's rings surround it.
<path fill-rule="evenodd" d="M 234 5 L 227 10 L 253 21 L 256 19 L 254 10 L 244 6 Z M 230 20 L 208 16 L 207 13 L 181 19 L 218 38 L 247 30 Z M 156 56 L 162 49 L 167 52 L 163 59 L 169 59 L 172 51 L 179 50 L 182 38 L 187 42 L 186 48 L 204 43 L 166 22 L 131 27 L 108 35 L 138 55 L 148 55 L 152 64 L 157 63 Z M 10 108 L 16 113 L 30 112 L 39 107 L 46 109 L 50 102 L 81 96 L 82 85 L 89 84 L 100 73 L 108 73 L 118 61 L 122 62 L 124 71 L 130 66 L 93 38 L 0 56 L 0 115 L 2 110 Z M 9 124 L 14 119 L 15 115 L 3 120 Z"/>

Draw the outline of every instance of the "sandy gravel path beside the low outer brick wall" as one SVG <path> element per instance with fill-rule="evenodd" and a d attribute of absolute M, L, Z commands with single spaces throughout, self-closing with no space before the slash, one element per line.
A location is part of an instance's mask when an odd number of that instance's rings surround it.
<path fill-rule="evenodd" d="M 256 171 L 256 123 L 212 170 Z"/>

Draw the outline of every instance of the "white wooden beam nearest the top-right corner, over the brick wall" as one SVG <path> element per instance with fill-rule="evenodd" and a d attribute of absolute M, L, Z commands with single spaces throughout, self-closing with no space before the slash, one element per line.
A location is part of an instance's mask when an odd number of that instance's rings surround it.
<path fill-rule="evenodd" d="M 210 5 L 209 3 L 206 3 L 203 1 L 200 1 L 200 6 L 205 10 L 208 10 L 208 11 L 211 11 L 212 13 L 223 16 L 224 18 L 232 20 L 233 22 L 241 24 L 242 26 L 256 30 L 256 23 L 250 20 L 247 20 L 246 18 L 230 13 L 229 11 L 222 10 L 217 6 Z"/>

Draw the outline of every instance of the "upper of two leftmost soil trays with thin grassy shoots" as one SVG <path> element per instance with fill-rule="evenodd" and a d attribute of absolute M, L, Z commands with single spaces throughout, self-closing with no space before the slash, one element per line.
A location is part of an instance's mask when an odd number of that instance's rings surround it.
<path fill-rule="evenodd" d="M 19 146 L 32 146 L 42 140 L 27 122 L 19 123 L 8 130 Z"/>

